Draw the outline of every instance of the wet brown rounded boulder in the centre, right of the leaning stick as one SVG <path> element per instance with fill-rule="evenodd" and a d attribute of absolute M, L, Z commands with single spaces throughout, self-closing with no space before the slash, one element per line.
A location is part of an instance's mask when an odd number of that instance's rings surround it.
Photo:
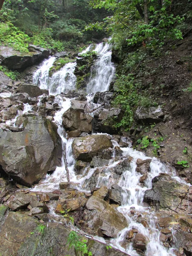
<path fill-rule="evenodd" d="M 112 147 L 110 137 L 107 135 L 89 135 L 73 140 L 72 149 L 76 160 L 89 162 L 93 157 L 107 148 Z"/>

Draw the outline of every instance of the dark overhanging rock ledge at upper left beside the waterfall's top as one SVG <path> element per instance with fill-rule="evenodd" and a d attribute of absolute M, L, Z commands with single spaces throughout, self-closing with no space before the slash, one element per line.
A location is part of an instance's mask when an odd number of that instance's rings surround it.
<path fill-rule="evenodd" d="M 0 47 L 0 60 L 3 65 L 6 65 L 12 70 L 21 70 L 26 67 L 30 67 L 34 64 L 38 64 L 45 58 L 51 55 L 51 50 L 47 50 L 41 47 L 30 47 L 31 52 L 17 52 L 11 47 Z M 34 50 L 34 52 L 32 52 Z"/>

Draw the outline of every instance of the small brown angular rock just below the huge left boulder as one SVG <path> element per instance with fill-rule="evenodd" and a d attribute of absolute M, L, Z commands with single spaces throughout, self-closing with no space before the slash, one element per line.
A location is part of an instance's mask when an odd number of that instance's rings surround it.
<path fill-rule="evenodd" d="M 37 201 L 36 195 L 17 193 L 16 195 L 11 196 L 8 205 L 12 211 L 17 211 L 26 209 L 32 201 Z"/>

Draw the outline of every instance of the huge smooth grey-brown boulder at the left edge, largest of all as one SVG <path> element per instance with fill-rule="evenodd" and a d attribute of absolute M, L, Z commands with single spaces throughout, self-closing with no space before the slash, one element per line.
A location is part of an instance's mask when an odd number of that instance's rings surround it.
<path fill-rule="evenodd" d="M 61 166 L 57 125 L 42 116 L 26 116 L 24 131 L 0 132 L 0 165 L 15 180 L 32 185 Z"/>

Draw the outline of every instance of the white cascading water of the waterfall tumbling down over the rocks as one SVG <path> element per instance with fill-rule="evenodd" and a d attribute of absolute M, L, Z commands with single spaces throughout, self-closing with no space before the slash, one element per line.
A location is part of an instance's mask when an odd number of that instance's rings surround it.
<path fill-rule="evenodd" d="M 91 47 L 87 48 L 83 53 L 90 50 Z M 87 84 L 87 92 L 95 93 L 96 91 L 108 90 L 111 79 L 113 78 L 115 68 L 111 63 L 111 46 L 108 44 L 99 44 L 96 46 L 95 51 L 99 54 L 99 58 L 93 65 L 91 70 L 91 78 Z M 34 74 L 34 83 L 38 84 L 41 88 L 48 89 L 51 94 L 59 94 L 61 92 L 75 88 L 76 78 L 73 74 L 76 63 L 66 64 L 60 71 L 55 73 L 51 79 L 48 78 L 49 68 L 54 62 L 54 58 L 51 57 L 49 60 L 44 61 L 39 70 Z M 76 183 L 75 188 L 79 190 L 89 191 L 89 180 L 92 175 L 96 172 L 96 169 L 84 169 L 82 175 L 75 175 L 74 172 L 74 158 L 72 154 L 71 144 L 73 139 L 68 141 L 64 137 L 63 128 L 61 128 L 62 115 L 70 108 L 70 99 L 62 99 L 61 96 L 57 95 L 55 97 L 55 103 L 61 106 L 61 110 L 55 113 L 54 120 L 58 124 L 58 133 L 61 136 L 63 143 L 66 143 L 66 157 L 68 162 L 68 169 L 70 171 L 70 181 Z M 110 135 L 109 135 L 110 136 Z M 118 143 L 113 141 L 113 147 L 119 146 Z M 127 167 L 125 172 L 123 172 L 118 185 L 122 188 L 122 206 L 118 207 L 119 212 L 121 212 L 128 222 L 128 227 L 122 230 L 115 239 L 111 239 L 111 245 L 116 247 L 131 256 L 139 256 L 136 250 L 133 249 L 133 244 L 130 243 L 125 249 L 122 247 L 122 241 L 129 230 L 132 228 L 137 229 L 138 232 L 142 233 L 149 240 L 147 248 L 145 251 L 146 256 L 175 256 L 172 249 L 167 249 L 163 247 L 160 242 L 159 230 L 155 227 L 154 223 L 154 212 L 152 212 L 148 207 L 143 206 L 143 197 L 147 189 L 152 186 L 151 180 L 153 177 L 157 176 L 159 173 L 167 173 L 174 177 L 177 181 L 183 182 L 180 178 L 176 177 L 174 170 L 170 170 L 163 163 L 160 163 L 157 158 L 146 157 L 142 152 L 136 151 L 131 148 L 131 144 L 127 148 L 121 148 L 123 151 L 123 158 L 126 159 L 131 157 L 130 167 Z M 141 186 L 139 182 L 140 173 L 136 172 L 136 162 L 137 159 L 146 160 L 151 159 L 150 172 L 148 173 L 148 178 L 145 180 L 144 186 Z M 113 159 L 111 159 L 108 166 L 104 166 L 105 169 L 102 171 L 102 175 L 98 177 L 96 187 L 107 186 L 111 187 L 113 183 L 113 178 L 111 178 L 111 168 L 118 165 L 120 161 L 115 160 L 115 154 L 113 154 Z M 109 178 L 110 177 L 110 178 Z M 52 175 L 47 175 L 46 179 L 40 184 L 33 188 L 33 191 L 51 191 L 58 189 L 59 183 L 61 181 L 67 181 L 66 170 L 64 167 L 64 160 L 62 160 L 62 166 L 57 167 Z M 77 184 L 79 183 L 79 184 Z M 135 209 L 143 216 L 148 215 L 149 223 L 148 227 L 144 227 L 142 224 L 138 223 L 135 215 L 130 217 L 131 209 Z M 51 208 L 51 212 L 53 209 Z M 101 238 L 96 237 L 97 240 Z M 102 239 L 102 242 L 105 240 Z"/>

